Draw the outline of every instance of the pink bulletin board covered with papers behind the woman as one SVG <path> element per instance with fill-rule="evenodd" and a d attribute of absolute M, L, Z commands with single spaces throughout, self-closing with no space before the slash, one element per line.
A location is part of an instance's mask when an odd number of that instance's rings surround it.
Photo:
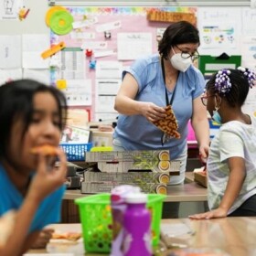
<path fill-rule="evenodd" d="M 62 36 L 51 31 L 51 45 L 58 44 L 61 41 L 64 41 L 66 44 L 66 48 L 59 52 L 59 60 L 62 62 L 60 63 L 60 68 L 51 68 L 50 70 L 51 83 L 56 85 L 58 80 L 67 79 L 67 87 L 69 88 L 69 75 L 67 75 L 67 78 L 63 76 L 63 73 L 61 75 L 63 55 L 69 52 L 70 59 L 65 65 L 74 65 L 76 69 L 84 69 L 85 77 L 82 78 L 80 71 L 78 71 L 75 75 L 77 76 L 75 80 L 80 83 L 78 86 L 80 86 L 80 89 L 83 88 L 85 94 L 91 94 L 91 97 L 89 95 L 88 99 L 80 102 L 77 101 L 75 106 L 72 105 L 70 108 L 82 108 L 90 111 L 91 121 L 111 121 L 116 119 L 118 113 L 113 110 L 113 101 L 121 84 L 122 70 L 139 57 L 139 54 L 136 52 L 138 48 L 141 48 L 138 52 L 145 55 L 157 53 L 156 38 L 159 37 L 158 34 L 161 31 L 163 33 L 165 27 L 168 27 L 171 22 L 148 20 L 148 12 L 186 13 L 194 14 L 195 16 L 197 13 L 196 7 L 177 6 L 66 6 L 66 8 L 73 16 L 74 22 L 88 20 L 89 25 L 73 29 L 69 34 Z M 126 33 L 129 33 L 129 35 L 125 35 Z M 106 35 L 108 36 L 106 37 Z M 131 41 L 129 41 L 130 37 L 132 37 Z M 146 43 L 143 45 L 144 37 L 144 42 Z M 126 45 L 124 44 L 126 48 L 120 49 L 122 45 L 120 42 L 122 42 L 123 38 L 127 41 Z M 138 44 L 135 43 L 134 45 L 134 38 L 141 38 L 141 40 L 139 40 Z M 95 46 L 98 46 L 98 48 L 94 48 Z M 91 48 L 92 55 L 87 56 L 87 51 L 91 50 Z M 77 63 L 74 63 L 75 61 Z M 109 64 L 108 61 L 110 61 Z M 109 69 L 113 65 L 112 69 L 116 69 L 116 72 L 112 72 L 112 77 L 108 77 L 110 76 L 109 73 L 104 73 L 102 70 L 100 78 L 98 77 L 97 73 L 99 74 L 100 72 L 101 64 L 105 68 L 106 66 L 109 67 Z M 88 88 L 87 90 L 86 87 L 90 87 L 90 89 Z M 100 91 L 99 88 L 101 88 Z"/>

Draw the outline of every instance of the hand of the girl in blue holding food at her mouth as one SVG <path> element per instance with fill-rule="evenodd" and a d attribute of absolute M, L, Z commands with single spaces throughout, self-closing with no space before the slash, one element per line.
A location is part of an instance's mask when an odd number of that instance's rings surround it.
<path fill-rule="evenodd" d="M 64 184 L 67 174 L 67 159 L 60 148 L 57 148 L 57 156 L 59 157 L 58 169 L 48 164 L 47 155 L 38 154 L 37 173 L 31 182 L 27 195 L 31 199 L 39 202 Z"/>

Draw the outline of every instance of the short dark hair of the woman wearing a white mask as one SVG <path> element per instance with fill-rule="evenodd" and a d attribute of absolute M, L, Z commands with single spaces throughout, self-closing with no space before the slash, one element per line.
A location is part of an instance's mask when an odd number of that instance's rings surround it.
<path fill-rule="evenodd" d="M 167 59 L 172 47 L 180 44 L 200 44 L 197 27 L 187 21 L 179 21 L 165 29 L 158 44 L 159 54 Z"/>

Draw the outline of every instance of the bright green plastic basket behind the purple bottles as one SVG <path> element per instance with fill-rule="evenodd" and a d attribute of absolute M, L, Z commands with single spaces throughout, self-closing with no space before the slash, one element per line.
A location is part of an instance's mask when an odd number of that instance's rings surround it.
<path fill-rule="evenodd" d="M 152 245 L 160 239 L 160 221 L 165 195 L 148 194 L 151 212 Z M 79 206 L 84 249 L 88 252 L 110 252 L 112 248 L 111 194 L 97 194 L 75 199 Z"/>

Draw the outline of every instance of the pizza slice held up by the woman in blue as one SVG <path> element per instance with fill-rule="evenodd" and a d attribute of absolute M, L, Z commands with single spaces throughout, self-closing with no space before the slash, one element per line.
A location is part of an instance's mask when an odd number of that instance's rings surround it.
<path fill-rule="evenodd" d="M 180 133 L 177 132 L 178 124 L 176 122 L 176 116 L 172 109 L 172 106 L 166 106 L 165 112 L 167 116 L 164 119 L 160 119 L 154 122 L 155 126 L 157 126 L 166 135 L 179 139 Z"/>

